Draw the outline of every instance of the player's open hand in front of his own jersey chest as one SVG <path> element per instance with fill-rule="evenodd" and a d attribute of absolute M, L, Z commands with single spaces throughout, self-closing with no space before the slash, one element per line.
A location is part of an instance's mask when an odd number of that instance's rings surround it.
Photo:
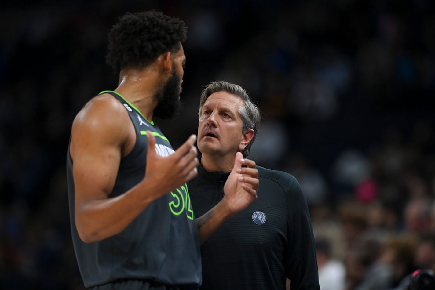
<path fill-rule="evenodd" d="M 197 175 L 199 162 L 194 146 L 196 135 L 191 135 L 180 148 L 167 157 L 157 154 L 156 140 L 151 131 L 147 131 L 147 137 L 147 169 L 144 182 L 154 183 L 158 187 L 155 198 L 174 190 Z"/>

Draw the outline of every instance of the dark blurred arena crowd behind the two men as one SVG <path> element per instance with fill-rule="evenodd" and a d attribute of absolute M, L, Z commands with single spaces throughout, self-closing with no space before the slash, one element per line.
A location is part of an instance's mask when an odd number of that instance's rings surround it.
<path fill-rule="evenodd" d="M 111 26 L 150 9 L 189 27 L 184 112 L 156 123 L 176 148 L 197 132 L 207 83 L 247 89 L 263 114 L 250 158 L 301 183 L 322 289 L 395 289 L 435 270 L 433 1 L 0 5 L 0 289 L 83 289 L 67 204 L 70 126 L 87 100 L 117 87 L 104 61 Z"/>

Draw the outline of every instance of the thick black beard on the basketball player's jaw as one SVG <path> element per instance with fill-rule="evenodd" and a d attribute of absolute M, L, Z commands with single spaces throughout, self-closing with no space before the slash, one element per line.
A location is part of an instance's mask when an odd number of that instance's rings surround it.
<path fill-rule="evenodd" d="M 154 109 L 154 117 L 170 119 L 181 113 L 180 82 L 180 77 L 174 70 L 161 90 L 156 93 L 155 98 L 158 100 L 158 104 Z"/>

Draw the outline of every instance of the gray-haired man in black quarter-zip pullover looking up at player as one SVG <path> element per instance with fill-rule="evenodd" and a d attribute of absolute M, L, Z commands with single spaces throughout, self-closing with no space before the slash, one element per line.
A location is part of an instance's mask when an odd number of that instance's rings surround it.
<path fill-rule="evenodd" d="M 195 213 L 206 213 L 224 198 L 233 156 L 248 156 L 260 120 L 242 87 L 218 81 L 203 90 L 197 140 L 202 156 L 198 175 L 187 183 Z M 201 245 L 201 289 L 285 289 L 286 278 L 291 290 L 319 289 L 311 220 L 298 181 L 256 168 L 258 199 Z"/>

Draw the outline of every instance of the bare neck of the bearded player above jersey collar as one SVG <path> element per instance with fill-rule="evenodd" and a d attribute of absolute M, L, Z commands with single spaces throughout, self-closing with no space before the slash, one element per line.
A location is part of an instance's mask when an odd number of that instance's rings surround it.
<path fill-rule="evenodd" d="M 119 84 L 115 91 L 151 121 L 154 108 L 157 106 L 154 97 L 159 89 L 157 79 L 157 73 L 147 69 L 121 70 Z"/>

